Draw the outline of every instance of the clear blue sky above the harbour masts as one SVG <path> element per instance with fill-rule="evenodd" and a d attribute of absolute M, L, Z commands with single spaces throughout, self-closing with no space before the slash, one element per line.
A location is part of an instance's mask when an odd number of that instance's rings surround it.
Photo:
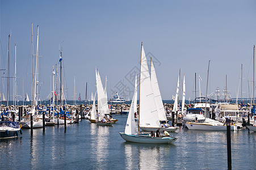
<path fill-rule="evenodd" d="M 31 23 L 34 54 L 39 25 L 39 82 L 43 99 L 52 89 L 52 66 L 58 63 L 59 46 L 68 99 L 85 99 L 95 92 L 95 67 L 107 94 L 133 91 L 129 73 L 139 67 L 141 42 L 153 57 L 163 99 L 175 94 L 179 69 L 186 76 L 186 98 L 194 99 L 195 73 L 202 78 L 205 95 L 228 77 L 228 90 L 236 98 L 243 64 L 243 97 L 249 97 L 253 45 L 256 44 L 256 1 L 7 1 L 1 0 L 1 69 L 7 69 L 8 35 L 11 34 L 11 76 L 14 75 L 14 44 L 17 56 L 18 95 L 31 95 Z M 3 75 L 3 71 L 1 71 Z M 50 83 L 51 79 L 51 83 Z M 24 83 L 22 83 L 22 80 Z M 197 91 L 198 78 L 196 79 Z M 248 83 L 249 81 L 249 83 Z M 6 80 L 1 91 L 6 93 Z M 249 84 L 249 85 L 248 85 Z M 11 84 L 12 88 L 12 84 Z M 241 88 L 241 86 L 240 86 Z M 89 91 L 89 90 L 88 90 Z M 11 90 L 11 94 L 12 90 Z M 197 92 L 199 94 L 199 92 Z M 241 94 L 241 92 L 240 92 Z M 129 98 L 132 99 L 130 92 Z M 241 95 L 240 95 L 241 96 Z M 12 98 L 11 98 L 12 99 Z"/>

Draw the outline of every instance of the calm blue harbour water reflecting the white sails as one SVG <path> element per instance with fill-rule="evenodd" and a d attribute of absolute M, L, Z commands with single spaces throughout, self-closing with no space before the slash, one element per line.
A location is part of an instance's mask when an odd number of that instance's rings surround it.
<path fill-rule="evenodd" d="M 23 129 L 16 139 L 0 142 L 0 169 L 227 169 L 226 133 L 192 131 L 171 133 L 173 145 L 125 142 L 126 115 L 112 127 L 79 124 Z M 240 130 L 232 136 L 232 168 L 256 168 L 256 133 Z"/>

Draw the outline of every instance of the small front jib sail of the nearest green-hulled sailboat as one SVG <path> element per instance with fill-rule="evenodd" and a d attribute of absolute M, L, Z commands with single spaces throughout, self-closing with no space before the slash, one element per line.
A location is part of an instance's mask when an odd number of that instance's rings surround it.
<path fill-rule="evenodd" d="M 136 103 L 136 105 L 135 105 Z M 125 134 L 136 134 L 136 123 L 134 113 L 137 112 L 137 75 L 135 75 L 135 91 L 132 97 L 131 108 L 127 117 L 127 122 L 125 126 Z"/>

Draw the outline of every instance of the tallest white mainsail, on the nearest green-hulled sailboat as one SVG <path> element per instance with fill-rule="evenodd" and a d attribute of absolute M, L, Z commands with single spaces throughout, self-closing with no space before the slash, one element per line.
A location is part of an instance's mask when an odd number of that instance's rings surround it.
<path fill-rule="evenodd" d="M 148 62 L 143 45 L 141 44 L 140 70 L 140 126 L 160 127 L 154 94 L 149 76 Z"/>

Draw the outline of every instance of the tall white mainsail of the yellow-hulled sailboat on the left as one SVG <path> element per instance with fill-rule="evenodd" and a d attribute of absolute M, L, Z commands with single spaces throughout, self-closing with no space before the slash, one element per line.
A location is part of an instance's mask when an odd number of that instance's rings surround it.
<path fill-rule="evenodd" d="M 98 112 L 100 113 L 101 117 L 104 117 L 105 114 L 110 114 L 110 109 L 108 109 L 107 98 L 104 93 L 102 80 L 100 79 L 98 70 L 96 70 L 96 87 L 98 94 Z"/>

